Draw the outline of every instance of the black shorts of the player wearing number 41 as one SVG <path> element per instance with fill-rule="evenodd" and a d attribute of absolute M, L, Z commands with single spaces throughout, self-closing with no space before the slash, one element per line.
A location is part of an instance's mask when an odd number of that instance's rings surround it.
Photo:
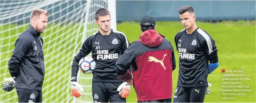
<path fill-rule="evenodd" d="M 103 103 L 126 103 L 126 98 L 119 95 L 117 88 L 123 82 L 92 82 L 92 97 L 93 102 Z"/>

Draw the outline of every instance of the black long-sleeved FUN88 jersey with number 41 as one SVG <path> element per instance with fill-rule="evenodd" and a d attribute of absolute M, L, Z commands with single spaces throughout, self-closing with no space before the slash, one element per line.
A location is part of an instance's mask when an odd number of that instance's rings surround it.
<path fill-rule="evenodd" d="M 116 61 L 129 46 L 129 41 L 124 33 L 110 30 L 109 35 L 97 31 L 84 41 L 73 59 L 72 76 L 77 76 L 79 60 L 92 52 L 96 62 L 92 80 L 122 82 L 116 74 Z"/>

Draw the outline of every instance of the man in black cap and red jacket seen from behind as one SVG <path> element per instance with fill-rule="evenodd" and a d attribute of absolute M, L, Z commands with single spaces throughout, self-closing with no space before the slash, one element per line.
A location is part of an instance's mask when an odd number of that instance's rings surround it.
<path fill-rule="evenodd" d="M 123 82 L 133 84 L 138 102 L 171 102 L 172 99 L 174 50 L 155 27 L 153 17 L 143 17 L 140 39 L 132 42 L 116 62 L 117 75 Z"/>

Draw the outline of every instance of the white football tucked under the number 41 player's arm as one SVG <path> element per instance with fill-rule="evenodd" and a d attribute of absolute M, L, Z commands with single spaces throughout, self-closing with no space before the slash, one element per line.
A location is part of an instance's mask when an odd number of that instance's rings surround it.
<path fill-rule="evenodd" d="M 78 63 L 79 70 L 84 74 L 91 74 L 94 71 L 95 66 L 96 62 L 90 56 L 83 57 Z"/>

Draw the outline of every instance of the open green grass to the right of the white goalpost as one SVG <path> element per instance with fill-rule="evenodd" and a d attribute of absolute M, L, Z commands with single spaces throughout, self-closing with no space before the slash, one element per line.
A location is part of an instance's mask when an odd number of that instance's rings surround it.
<path fill-rule="evenodd" d="M 210 95 L 205 96 L 205 102 L 256 102 L 255 98 L 255 21 L 253 22 L 222 22 L 222 23 L 202 23 L 197 22 L 197 26 L 207 31 L 216 41 L 218 48 L 219 67 L 208 76 Z M 117 26 L 119 31 L 126 33 L 129 41 L 135 41 L 141 33 L 138 23 L 126 22 Z M 175 48 L 174 36 L 183 29 L 180 22 L 157 22 L 156 30 L 166 36 Z M 175 51 L 176 61 L 178 52 Z M 178 65 L 178 62 L 177 62 Z M 178 67 L 177 67 L 178 68 Z M 243 85 L 250 85 L 252 92 L 246 95 L 222 95 L 222 72 L 221 70 L 244 70 L 246 77 L 251 80 L 241 81 Z M 228 74 L 228 73 L 225 73 Z M 235 74 L 235 73 L 233 73 Z M 178 80 L 178 69 L 173 72 L 173 94 Z M 134 93 L 135 91 L 132 91 Z M 243 92 L 244 93 L 244 92 Z M 222 97 L 233 97 L 233 99 L 223 100 Z M 253 97 L 253 98 L 252 98 Z M 129 95 L 128 102 L 135 102 L 136 95 Z"/>

